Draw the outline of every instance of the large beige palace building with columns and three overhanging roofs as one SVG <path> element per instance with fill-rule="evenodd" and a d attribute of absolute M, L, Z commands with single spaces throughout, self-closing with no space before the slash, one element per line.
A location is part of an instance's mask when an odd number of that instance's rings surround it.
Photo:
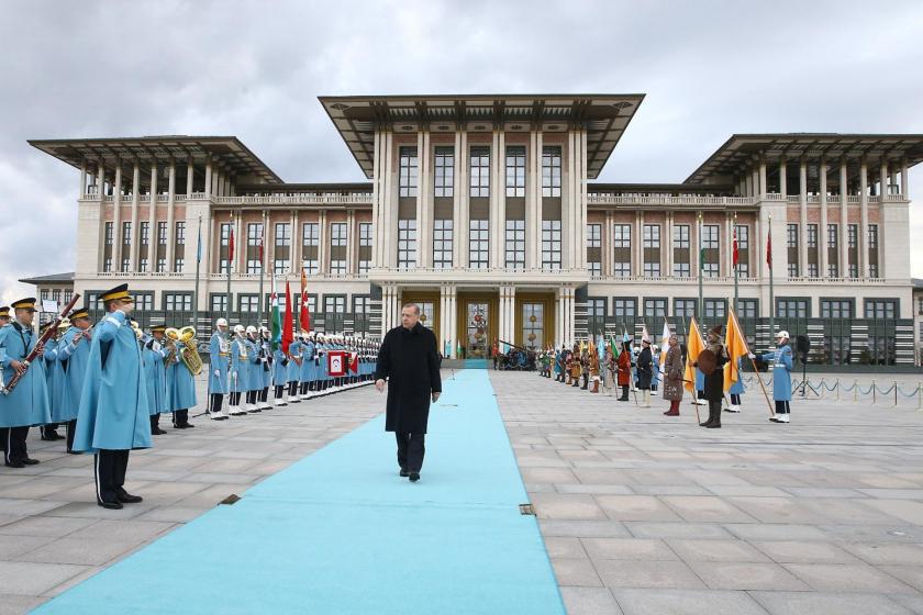
<path fill-rule="evenodd" d="M 915 362 L 923 135 L 735 134 L 681 182 L 596 182 L 643 100 L 321 97 L 355 183 L 288 183 L 233 136 L 30 143 L 79 171 L 74 291 L 130 280 L 143 324 L 257 324 L 271 277 L 297 304 L 303 269 L 315 329 L 377 337 L 414 301 L 453 358 L 659 336 L 665 317 L 682 336 L 726 318 L 736 241 L 756 348 L 771 318 L 813 362 Z"/>

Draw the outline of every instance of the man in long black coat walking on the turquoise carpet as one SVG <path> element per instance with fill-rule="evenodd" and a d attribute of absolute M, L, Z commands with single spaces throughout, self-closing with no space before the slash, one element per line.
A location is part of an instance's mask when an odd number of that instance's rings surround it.
<path fill-rule="evenodd" d="M 430 401 L 442 393 L 436 336 L 420 324 L 420 306 L 409 303 L 401 309 L 401 326 L 385 335 L 378 350 L 375 387 L 388 385 L 388 412 L 385 431 L 394 432 L 401 477 L 420 480 L 425 452 L 424 439 L 430 417 Z"/>

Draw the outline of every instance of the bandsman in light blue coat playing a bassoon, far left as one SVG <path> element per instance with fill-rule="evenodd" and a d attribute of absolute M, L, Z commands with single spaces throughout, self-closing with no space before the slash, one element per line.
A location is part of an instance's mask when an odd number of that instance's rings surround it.
<path fill-rule="evenodd" d="M 12 309 L 16 320 L 0 328 L 0 381 L 3 383 L 9 383 L 15 373 L 11 364 L 22 364 L 38 342 L 31 317 L 35 313 L 35 299 L 16 301 Z M 0 394 L 0 438 L 5 451 L 4 461 L 11 468 L 38 462 L 29 457 L 25 438 L 31 426 L 44 425 L 52 420 L 44 362 L 35 360 L 30 364 L 15 389 L 9 394 Z"/>

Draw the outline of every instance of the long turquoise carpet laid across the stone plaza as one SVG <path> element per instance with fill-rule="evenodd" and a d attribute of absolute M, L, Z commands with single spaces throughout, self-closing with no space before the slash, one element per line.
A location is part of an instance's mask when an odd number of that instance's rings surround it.
<path fill-rule="evenodd" d="M 33 613 L 563 615 L 488 374 L 444 391 L 419 483 L 379 416 Z"/>

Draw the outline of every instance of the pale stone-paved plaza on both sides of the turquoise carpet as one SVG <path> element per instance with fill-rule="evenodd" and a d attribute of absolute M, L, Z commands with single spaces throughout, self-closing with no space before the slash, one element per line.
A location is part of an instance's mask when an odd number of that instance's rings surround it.
<path fill-rule="evenodd" d="M 792 423 L 775 425 L 750 391 L 743 414 L 707 431 L 689 404 L 668 418 L 659 398 L 640 409 L 533 373 L 490 378 L 571 615 L 923 613 L 915 401 L 796 401 Z M 382 402 L 367 387 L 167 427 L 154 449 L 132 454 L 127 487 L 145 502 L 122 511 L 96 506 L 89 457 L 33 433 L 43 462 L 0 468 L 0 614 L 23 613 L 241 494 Z M 215 571 L 184 573 L 208 583 Z"/>

